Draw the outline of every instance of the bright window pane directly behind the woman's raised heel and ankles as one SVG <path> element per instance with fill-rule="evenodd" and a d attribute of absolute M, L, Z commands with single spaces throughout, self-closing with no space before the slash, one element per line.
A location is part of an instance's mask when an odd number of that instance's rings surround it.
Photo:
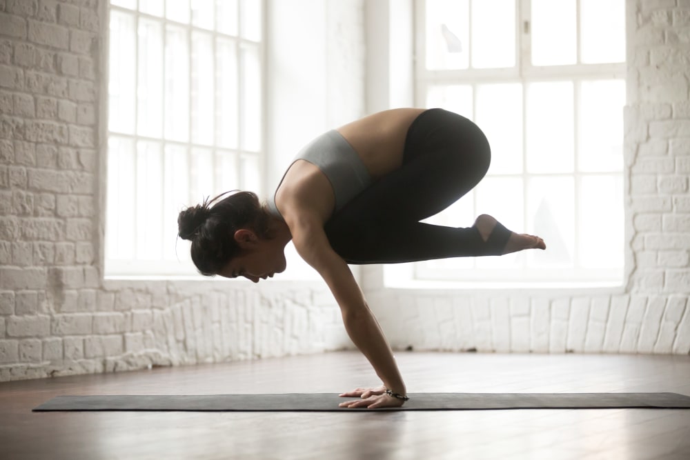
<path fill-rule="evenodd" d="M 485 177 L 475 188 L 477 214 L 490 214 L 504 226 L 522 232 L 524 228 L 524 203 L 522 179 L 515 177 Z M 517 254 L 502 257 L 477 257 L 479 268 L 518 268 Z"/>

